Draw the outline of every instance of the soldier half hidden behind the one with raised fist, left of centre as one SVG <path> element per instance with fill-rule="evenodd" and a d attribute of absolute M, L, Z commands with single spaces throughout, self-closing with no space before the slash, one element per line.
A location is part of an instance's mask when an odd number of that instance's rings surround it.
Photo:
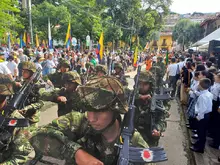
<path fill-rule="evenodd" d="M 57 67 L 57 70 L 59 70 L 59 72 L 57 71 L 53 74 L 46 75 L 43 77 L 43 80 L 46 81 L 48 84 L 53 85 L 55 88 L 62 88 L 62 75 L 63 73 L 68 72 L 69 69 L 70 62 L 68 60 L 61 59 Z"/>

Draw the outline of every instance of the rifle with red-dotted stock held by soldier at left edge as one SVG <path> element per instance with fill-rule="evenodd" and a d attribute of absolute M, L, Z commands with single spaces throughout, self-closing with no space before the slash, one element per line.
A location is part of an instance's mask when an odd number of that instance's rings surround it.
<path fill-rule="evenodd" d="M 23 107 L 35 83 L 39 80 L 41 69 L 38 69 L 22 88 L 13 96 L 4 108 L 4 116 L 0 115 L 0 161 L 4 160 L 4 152 L 9 150 L 12 132 L 16 127 L 28 127 L 29 122 L 25 118 L 10 118 L 13 111 Z"/>

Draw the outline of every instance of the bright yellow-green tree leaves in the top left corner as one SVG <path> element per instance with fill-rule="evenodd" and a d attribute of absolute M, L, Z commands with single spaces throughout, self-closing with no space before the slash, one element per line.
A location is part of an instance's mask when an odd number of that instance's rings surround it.
<path fill-rule="evenodd" d="M 18 1 L 16 0 L 0 1 L 0 38 L 7 32 L 17 35 L 17 29 L 23 28 L 20 23 L 20 10 L 17 6 Z"/>

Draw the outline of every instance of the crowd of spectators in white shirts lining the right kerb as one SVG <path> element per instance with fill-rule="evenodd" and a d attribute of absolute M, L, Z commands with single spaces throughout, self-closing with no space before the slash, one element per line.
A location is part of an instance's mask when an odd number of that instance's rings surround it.
<path fill-rule="evenodd" d="M 220 149 L 220 71 L 217 60 L 213 53 L 209 57 L 187 53 L 172 57 L 167 68 L 169 85 L 174 89 L 172 96 L 179 97 L 181 104 L 187 107 L 187 128 L 194 133 L 190 149 L 194 152 L 204 153 L 207 136 L 213 139 L 209 145 Z"/>

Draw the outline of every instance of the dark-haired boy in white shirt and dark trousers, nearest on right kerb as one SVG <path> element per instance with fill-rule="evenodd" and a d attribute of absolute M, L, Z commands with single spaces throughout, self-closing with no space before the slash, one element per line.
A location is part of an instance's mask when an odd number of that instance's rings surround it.
<path fill-rule="evenodd" d="M 200 95 L 195 105 L 196 119 L 198 121 L 198 140 L 192 147 L 190 147 L 194 152 L 204 153 L 209 116 L 212 111 L 213 95 L 208 91 L 210 86 L 211 81 L 208 78 L 203 78 L 199 81 L 198 88 L 200 90 Z"/>

